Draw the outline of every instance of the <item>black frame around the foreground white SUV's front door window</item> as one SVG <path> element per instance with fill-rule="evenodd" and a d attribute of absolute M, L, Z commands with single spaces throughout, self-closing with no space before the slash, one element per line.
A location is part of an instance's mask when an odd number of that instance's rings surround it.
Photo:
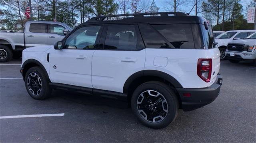
<path fill-rule="evenodd" d="M 82 25 L 82 26 L 78 26 L 76 27 L 75 29 L 73 29 L 71 32 L 68 33 L 68 35 L 66 35 L 63 39 L 62 39 L 62 43 L 63 45 L 65 45 L 66 43 L 66 39 L 72 34 L 74 33 L 76 30 L 82 28 L 82 27 L 92 27 L 92 26 L 100 26 L 100 29 L 99 29 L 99 32 L 98 32 L 98 35 L 96 37 L 96 40 L 95 40 L 95 46 L 93 49 L 66 49 L 66 48 L 63 48 L 61 50 L 95 50 L 95 47 L 99 45 L 99 42 L 100 42 L 100 37 L 102 36 L 102 31 L 103 31 L 103 27 L 104 25 L 101 25 L 101 24 L 96 24 L 96 25 Z"/>

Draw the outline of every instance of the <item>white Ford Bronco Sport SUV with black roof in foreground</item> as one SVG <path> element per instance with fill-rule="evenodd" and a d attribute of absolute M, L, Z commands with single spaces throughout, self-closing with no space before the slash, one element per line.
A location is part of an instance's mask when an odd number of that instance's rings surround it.
<path fill-rule="evenodd" d="M 214 47 L 211 26 L 198 16 L 101 16 L 54 46 L 25 49 L 20 72 L 34 99 L 54 88 L 126 100 L 144 125 L 162 128 L 179 108 L 194 110 L 218 96 L 220 51 Z"/>

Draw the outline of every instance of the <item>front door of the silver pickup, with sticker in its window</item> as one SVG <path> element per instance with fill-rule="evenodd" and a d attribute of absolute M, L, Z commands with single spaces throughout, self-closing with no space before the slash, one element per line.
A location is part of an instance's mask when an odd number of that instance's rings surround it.
<path fill-rule="evenodd" d="M 61 41 L 65 35 L 63 34 L 64 27 L 59 24 L 49 24 L 48 31 L 48 45 L 54 45 L 56 42 Z"/>

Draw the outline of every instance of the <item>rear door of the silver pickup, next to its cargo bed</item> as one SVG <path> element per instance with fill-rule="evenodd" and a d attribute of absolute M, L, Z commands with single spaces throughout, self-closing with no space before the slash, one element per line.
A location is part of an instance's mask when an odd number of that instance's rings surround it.
<path fill-rule="evenodd" d="M 25 32 L 25 43 L 26 48 L 48 45 L 47 24 L 31 23 Z"/>

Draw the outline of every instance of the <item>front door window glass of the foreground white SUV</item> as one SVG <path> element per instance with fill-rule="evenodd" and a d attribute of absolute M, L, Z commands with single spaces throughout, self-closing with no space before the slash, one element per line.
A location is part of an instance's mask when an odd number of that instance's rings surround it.
<path fill-rule="evenodd" d="M 81 27 L 66 39 L 64 49 L 93 49 L 100 26 Z"/>

